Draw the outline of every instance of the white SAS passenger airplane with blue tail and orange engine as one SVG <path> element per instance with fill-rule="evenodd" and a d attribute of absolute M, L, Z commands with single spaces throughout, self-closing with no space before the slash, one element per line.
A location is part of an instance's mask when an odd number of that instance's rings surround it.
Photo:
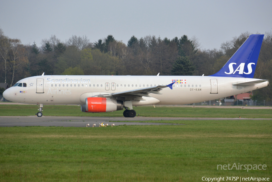
<path fill-rule="evenodd" d="M 253 91 L 269 85 L 254 79 L 264 35 L 250 35 L 228 62 L 210 76 L 44 75 L 24 78 L 4 91 L 5 99 L 43 105 L 81 105 L 83 112 L 123 110 L 133 106 L 193 104 Z"/>

